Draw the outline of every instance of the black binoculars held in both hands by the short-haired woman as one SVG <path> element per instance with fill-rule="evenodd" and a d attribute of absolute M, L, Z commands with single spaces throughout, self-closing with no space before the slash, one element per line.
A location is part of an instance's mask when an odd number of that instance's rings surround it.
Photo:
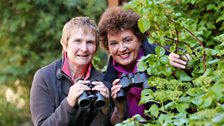
<path fill-rule="evenodd" d="M 87 86 L 91 89 L 94 87 L 92 83 L 87 84 Z M 84 91 L 78 98 L 78 106 L 87 109 L 92 104 L 100 109 L 105 105 L 105 99 L 99 91 Z"/>

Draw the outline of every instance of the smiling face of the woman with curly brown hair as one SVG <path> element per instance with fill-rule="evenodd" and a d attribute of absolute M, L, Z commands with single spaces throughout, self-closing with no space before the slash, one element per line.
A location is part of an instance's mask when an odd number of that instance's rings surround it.
<path fill-rule="evenodd" d="M 125 68 L 133 68 L 138 58 L 141 42 L 132 30 L 108 32 L 108 49 L 113 59 Z"/>

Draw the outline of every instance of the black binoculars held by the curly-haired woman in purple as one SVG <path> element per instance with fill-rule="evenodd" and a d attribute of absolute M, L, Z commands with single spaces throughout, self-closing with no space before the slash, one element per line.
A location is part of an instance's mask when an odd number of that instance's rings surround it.
<path fill-rule="evenodd" d="M 126 92 L 128 92 L 131 87 L 140 87 L 143 89 L 149 88 L 148 85 L 148 75 L 145 72 L 136 73 L 123 73 L 120 77 L 120 84 L 122 85 L 121 90 L 117 93 L 116 100 L 118 102 L 126 99 Z"/>

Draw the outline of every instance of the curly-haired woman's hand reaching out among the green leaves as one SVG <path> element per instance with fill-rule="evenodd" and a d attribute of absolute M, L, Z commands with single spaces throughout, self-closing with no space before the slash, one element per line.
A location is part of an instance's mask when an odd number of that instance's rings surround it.
<path fill-rule="evenodd" d="M 190 59 L 191 57 L 189 54 L 186 54 L 184 56 L 179 56 L 178 54 L 171 52 L 169 55 L 170 65 L 180 69 L 186 69 L 187 62 Z"/>

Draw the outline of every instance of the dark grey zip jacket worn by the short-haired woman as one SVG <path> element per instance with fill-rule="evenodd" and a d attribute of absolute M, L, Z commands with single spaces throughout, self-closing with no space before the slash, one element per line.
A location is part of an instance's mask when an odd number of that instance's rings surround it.
<path fill-rule="evenodd" d="M 66 97 L 71 78 L 61 71 L 62 60 L 39 69 L 33 78 L 30 109 L 35 126 L 107 126 L 110 116 L 100 110 L 70 107 Z M 103 81 L 103 75 L 92 67 L 90 79 Z M 111 84 L 103 81 L 110 89 Z"/>

